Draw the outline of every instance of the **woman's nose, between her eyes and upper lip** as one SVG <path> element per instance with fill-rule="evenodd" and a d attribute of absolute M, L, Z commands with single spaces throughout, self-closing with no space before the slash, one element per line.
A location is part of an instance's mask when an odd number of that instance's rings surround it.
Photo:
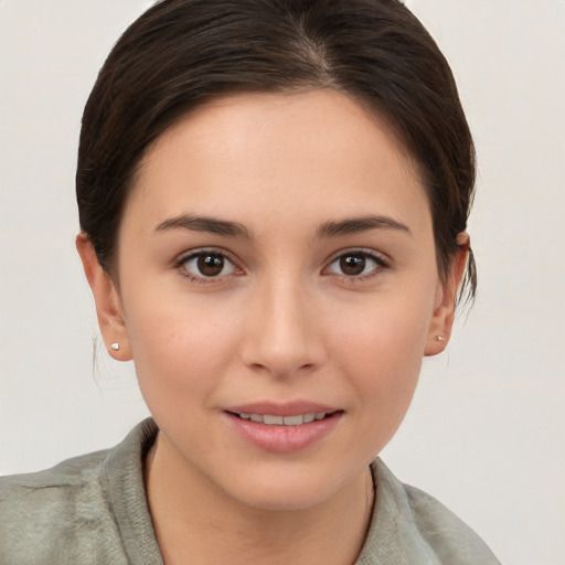
<path fill-rule="evenodd" d="M 257 289 L 242 345 L 244 363 L 275 377 L 322 365 L 326 347 L 315 305 L 299 281 L 275 281 Z"/>

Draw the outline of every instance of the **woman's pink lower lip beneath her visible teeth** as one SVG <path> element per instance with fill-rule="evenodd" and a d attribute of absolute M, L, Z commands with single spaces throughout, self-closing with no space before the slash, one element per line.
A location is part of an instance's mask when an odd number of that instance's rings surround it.
<path fill-rule="evenodd" d="M 334 413 L 324 419 L 317 419 L 299 426 L 268 426 L 249 419 L 242 419 L 225 413 L 236 431 L 245 440 L 265 451 L 290 454 L 306 449 L 320 441 L 338 424 L 342 413 Z"/>

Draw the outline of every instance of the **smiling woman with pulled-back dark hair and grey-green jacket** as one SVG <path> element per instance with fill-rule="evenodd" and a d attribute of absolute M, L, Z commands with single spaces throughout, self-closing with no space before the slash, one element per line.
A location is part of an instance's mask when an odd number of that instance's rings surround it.
<path fill-rule="evenodd" d="M 396 0 L 164 0 L 86 105 L 77 249 L 152 419 L 2 480 L 2 563 L 498 563 L 375 457 L 447 345 L 473 147 Z"/>

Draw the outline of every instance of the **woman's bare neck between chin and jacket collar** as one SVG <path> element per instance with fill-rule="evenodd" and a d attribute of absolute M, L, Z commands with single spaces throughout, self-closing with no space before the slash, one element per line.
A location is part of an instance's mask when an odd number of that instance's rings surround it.
<path fill-rule="evenodd" d="M 177 461 L 175 461 L 177 459 Z M 299 510 L 265 510 L 227 495 L 179 465 L 160 435 L 146 461 L 149 509 L 166 565 L 191 563 L 343 564 L 366 536 L 373 481 L 369 468 L 328 500 Z"/>

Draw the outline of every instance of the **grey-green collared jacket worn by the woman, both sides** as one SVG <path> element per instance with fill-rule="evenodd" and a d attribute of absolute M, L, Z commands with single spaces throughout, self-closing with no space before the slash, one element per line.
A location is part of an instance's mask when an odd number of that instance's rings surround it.
<path fill-rule="evenodd" d="M 0 478 L 0 565 L 162 565 L 143 488 L 151 419 L 113 449 Z M 356 565 L 494 565 L 455 514 L 376 459 L 371 527 Z"/>

